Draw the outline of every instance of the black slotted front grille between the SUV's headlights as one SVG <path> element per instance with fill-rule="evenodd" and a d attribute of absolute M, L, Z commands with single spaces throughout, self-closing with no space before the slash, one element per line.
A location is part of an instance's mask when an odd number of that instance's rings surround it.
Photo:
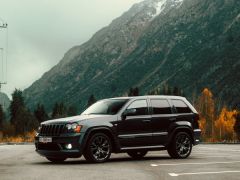
<path fill-rule="evenodd" d="M 42 125 L 40 135 L 42 136 L 59 136 L 65 132 L 65 125 L 63 124 L 48 124 Z"/>

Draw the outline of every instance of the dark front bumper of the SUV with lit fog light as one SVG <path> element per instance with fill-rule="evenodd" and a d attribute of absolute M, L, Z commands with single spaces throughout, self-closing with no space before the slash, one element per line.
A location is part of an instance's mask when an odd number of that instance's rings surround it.
<path fill-rule="evenodd" d="M 83 144 L 81 142 L 83 135 L 81 133 L 51 137 L 51 143 L 39 142 L 40 137 L 46 136 L 38 135 L 35 137 L 36 152 L 41 156 L 52 158 L 78 158 L 82 155 Z M 72 148 L 67 149 L 67 144 L 71 144 Z"/>

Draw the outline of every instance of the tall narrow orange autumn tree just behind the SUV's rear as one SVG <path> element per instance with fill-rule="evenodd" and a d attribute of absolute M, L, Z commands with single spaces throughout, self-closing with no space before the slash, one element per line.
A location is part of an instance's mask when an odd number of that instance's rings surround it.
<path fill-rule="evenodd" d="M 214 140 L 214 120 L 215 120 L 215 104 L 212 92 L 205 88 L 197 102 L 197 109 L 200 114 L 199 124 L 202 130 L 204 140 Z"/>

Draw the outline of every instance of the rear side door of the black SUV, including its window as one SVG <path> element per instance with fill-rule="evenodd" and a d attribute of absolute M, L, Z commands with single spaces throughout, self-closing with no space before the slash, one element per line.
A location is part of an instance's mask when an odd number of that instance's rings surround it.
<path fill-rule="evenodd" d="M 165 144 L 168 137 L 168 127 L 176 116 L 172 114 L 167 99 L 150 99 L 152 114 L 152 130 L 154 145 Z"/>

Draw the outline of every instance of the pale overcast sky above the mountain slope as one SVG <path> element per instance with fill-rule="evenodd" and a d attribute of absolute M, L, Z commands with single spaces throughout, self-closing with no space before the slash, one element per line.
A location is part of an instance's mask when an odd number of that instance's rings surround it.
<path fill-rule="evenodd" d="M 87 41 L 140 1 L 0 0 L 0 25 L 8 23 L 7 85 L 1 91 L 10 96 L 15 88 L 27 88 L 68 49 Z M 0 60 L 7 49 L 6 34 L 1 28 Z M 1 81 L 6 81 L 2 67 L 0 71 Z"/>

